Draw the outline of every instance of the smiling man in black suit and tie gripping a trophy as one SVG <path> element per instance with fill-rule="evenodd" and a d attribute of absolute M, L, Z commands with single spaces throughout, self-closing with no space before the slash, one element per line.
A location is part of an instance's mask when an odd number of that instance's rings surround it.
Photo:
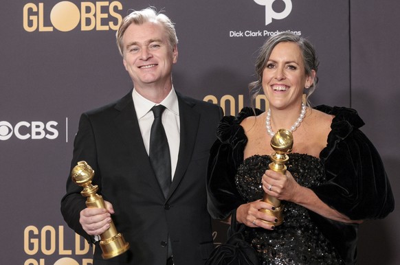
<path fill-rule="evenodd" d="M 118 29 L 117 43 L 133 90 L 82 114 L 71 162 L 71 168 L 78 161 L 93 168 L 93 184 L 99 186 L 107 211 L 87 208 L 82 188 L 69 177 L 61 202 L 64 219 L 98 246 L 98 235 L 109 228 L 112 214 L 130 249 L 103 260 L 96 247 L 94 265 L 204 264 L 213 249 L 205 170 L 222 110 L 175 91 L 171 71 L 177 36 L 164 14 L 152 8 L 132 12 Z M 152 108 L 159 104 L 165 106 L 161 119 L 168 147 L 157 152 L 169 150 L 164 173 L 172 178 L 166 189 L 157 180 L 160 168 L 149 158 Z"/>

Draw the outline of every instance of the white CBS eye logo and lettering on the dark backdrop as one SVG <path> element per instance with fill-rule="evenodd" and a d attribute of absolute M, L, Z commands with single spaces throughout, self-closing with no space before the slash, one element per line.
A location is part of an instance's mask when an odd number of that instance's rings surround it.
<path fill-rule="evenodd" d="M 50 140 L 58 137 L 58 130 L 55 128 L 58 122 L 19 122 L 12 126 L 10 122 L 0 122 L 0 141 L 8 140 L 14 134 L 16 138 L 26 139 L 43 139 Z"/>

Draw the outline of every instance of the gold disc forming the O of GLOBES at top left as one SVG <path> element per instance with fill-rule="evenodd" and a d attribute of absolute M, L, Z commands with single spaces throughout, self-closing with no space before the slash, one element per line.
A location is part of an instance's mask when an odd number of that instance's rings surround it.
<path fill-rule="evenodd" d="M 80 11 L 74 3 L 62 1 L 54 5 L 50 12 L 50 21 L 60 32 L 69 32 L 79 24 Z"/>

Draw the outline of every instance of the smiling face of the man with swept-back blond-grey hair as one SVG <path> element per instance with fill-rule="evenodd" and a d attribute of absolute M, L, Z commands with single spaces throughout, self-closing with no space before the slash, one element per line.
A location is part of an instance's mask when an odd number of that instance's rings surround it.
<path fill-rule="evenodd" d="M 159 23 L 131 24 L 122 36 L 123 62 L 136 89 L 171 84 L 172 66 L 177 62 L 177 46 L 171 47 Z"/>

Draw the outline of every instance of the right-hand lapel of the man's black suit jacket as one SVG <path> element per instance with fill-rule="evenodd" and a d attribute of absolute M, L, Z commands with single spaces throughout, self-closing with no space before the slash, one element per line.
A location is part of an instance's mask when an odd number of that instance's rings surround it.
<path fill-rule="evenodd" d="M 190 160 L 192 159 L 192 153 L 195 148 L 195 140 L 197 137 L 197 128 L 199 128 L 200 115 L 196 111 L 193 111 L 193 103 L 188 102 L 181 97 L 179 93 L 179 124 L 180 129 L 180 143 L 179 143 L 179 154 L 177 169 L 175 170 L 173 182 L 171 183 L 170 192 L 168 198 L 173 194 L 179 183 L 181 182 Z"/>

